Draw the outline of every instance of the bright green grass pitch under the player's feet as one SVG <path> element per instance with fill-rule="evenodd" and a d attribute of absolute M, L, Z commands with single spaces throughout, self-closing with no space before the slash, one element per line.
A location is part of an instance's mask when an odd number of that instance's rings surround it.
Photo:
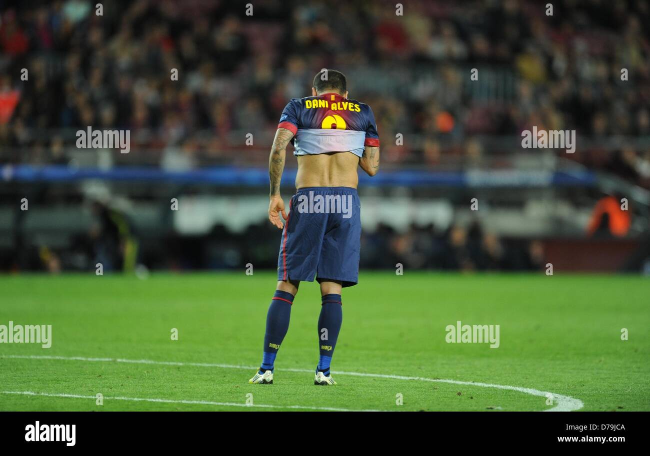
<path fill-rule="evenodd" d="M 579 399 L 584 411 L 650 410 L 647 277 L 361 272 L 359 285 L 343 291 L 332 362 L 339 385 L 328 387 L 313 385 L 318 286 L 302 283 L 274 385 L 249 385 L 254 372 L 246 366 L 261 361 L 275 283 L 269 272 L 2 276 L 0 325 L 52 325 L 53 341 L 49 349 L 0 344 L 0 410 L 553 407 L 518 390 L 341 372 L 534 388 Z M 500 325 L 499 348 L 445 342 L 445 327 L 458 320 Z M 621 340 L 623 328 L 629 340 Z M 90 360 L 96 358 L 104 360 Z M 98 393 L 103 405 L 96 404 Z M 242 407 L 247 398 L 252 407 Z"/>

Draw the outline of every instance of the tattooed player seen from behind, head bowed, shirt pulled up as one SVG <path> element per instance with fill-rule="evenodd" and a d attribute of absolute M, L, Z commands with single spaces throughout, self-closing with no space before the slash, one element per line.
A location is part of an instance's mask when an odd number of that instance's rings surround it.
<path fill-rule="evenodd" d="M 298 157 L 298 191 L 289 201 L 287 215 L 280 179 L 291 140 Z M 374 114 L 369 105 L 348 99 L 343 73 L 322 70 L 314 77 L 311 97 L 294 98 L 282 111 L 271 147 L 268 220 L 283 229 L 278 286 L 266 314 L 262 364 L 249 383 L 273 383 L 274 362 L 289 329 L 298 286 L 316 277 L 322 303 L 314 384 L 336 385 L 330 362 L 343 321 L 341 288 L 356 285 L 359 277 L 357 166 L 370 176 L 379 170 Z"/>

